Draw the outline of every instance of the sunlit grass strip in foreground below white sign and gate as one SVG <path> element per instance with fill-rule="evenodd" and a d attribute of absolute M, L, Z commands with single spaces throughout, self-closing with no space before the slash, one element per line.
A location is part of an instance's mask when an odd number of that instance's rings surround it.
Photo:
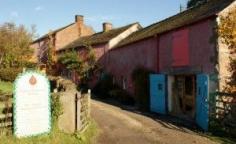
<path fill-rule="evenodd" d="M 66 134 L 57 128 L 48 135 L 18 139 L 13 136 L 0 136 L 1 144 L 90 144 L 97 135 L 97 125 L 91 121 L 83 133 Z"/>

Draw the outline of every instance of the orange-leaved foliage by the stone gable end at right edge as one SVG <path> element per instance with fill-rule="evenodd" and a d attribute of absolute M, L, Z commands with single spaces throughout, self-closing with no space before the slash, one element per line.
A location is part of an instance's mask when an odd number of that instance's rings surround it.
<path fill-rule="evenodd" d="M 236 7 L 230 13 L 220 17 L 219 36 L 230 52 L 229 71 L 231 76 L 227 81 L 226 92 L 236 95 Z"/>

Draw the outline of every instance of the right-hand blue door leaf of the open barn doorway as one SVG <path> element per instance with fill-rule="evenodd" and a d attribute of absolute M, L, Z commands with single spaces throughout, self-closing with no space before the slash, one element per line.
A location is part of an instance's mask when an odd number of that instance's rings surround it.
<path fill-rule="evenodd" d="M 200 74 L 197 76 L 196 122 L 205 131 L 208 130 L 208 121 L 209 121 L 208 95 L 209 95 L 208 76 Z"/>

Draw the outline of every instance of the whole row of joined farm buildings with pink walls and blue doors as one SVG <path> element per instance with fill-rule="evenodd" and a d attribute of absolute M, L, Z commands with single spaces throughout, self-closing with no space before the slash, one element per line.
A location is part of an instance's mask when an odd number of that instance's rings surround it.
<path fill-rule="evenodd" d="M 90 28 L 85 33 L 78 32 L 81 28 L 76 26 L 83 21 L 80 16 L 76 19 L 78 24 L 53 32 L 55 53 L 76 49 L 81 54 L 84 45 L 90 44 L 104 71 L 131 94 L 132 72 L 139 67 L 153 71 L 151 111 L 194 120 L 207 130 L 209 96 L 221 91 L 229 76 L 229 52 L 217 37 L 219 17 L 235 6 L 235 0 L 210 0 L 146 28 L 134 23 L 112 29 L 111 24 L 104 23 L 104 30 L 99 33 Z M 64 32 L 72 27 L 76 27 L 76 32 Z M 40 61 L 47 37 L 34 43 Z M 76 81 L 75 74 L 71 78 Z"/>

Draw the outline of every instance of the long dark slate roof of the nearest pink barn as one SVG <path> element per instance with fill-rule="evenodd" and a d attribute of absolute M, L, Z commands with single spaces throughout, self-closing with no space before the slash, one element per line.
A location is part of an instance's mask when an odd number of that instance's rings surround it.
<path fill-rule="evenodd" d="M 209 2 L 206 2 L 202 5 L 190 8 L 177 15 L 141 29 L 121 41 L 116 47 L 121 47 L 129 43 L 143 40 L 156 34 L 161 34 L 173 29 L 177 29 L 216 15 L 234 1 L 235 0 L 210 0 Z"/>

